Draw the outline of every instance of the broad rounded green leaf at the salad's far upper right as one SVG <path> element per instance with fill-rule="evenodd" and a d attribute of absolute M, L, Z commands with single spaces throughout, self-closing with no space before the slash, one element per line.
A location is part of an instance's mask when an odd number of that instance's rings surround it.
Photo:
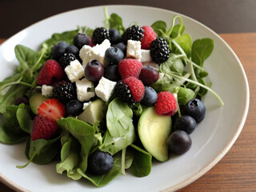
<path fill-rule="evenodd" d="M 191 59 L 192 62 L 203 66 L 203 62 L 210 56 L 214 50 L 214 40 L 211 38 L 197 39 L 193 42 Z"/>

